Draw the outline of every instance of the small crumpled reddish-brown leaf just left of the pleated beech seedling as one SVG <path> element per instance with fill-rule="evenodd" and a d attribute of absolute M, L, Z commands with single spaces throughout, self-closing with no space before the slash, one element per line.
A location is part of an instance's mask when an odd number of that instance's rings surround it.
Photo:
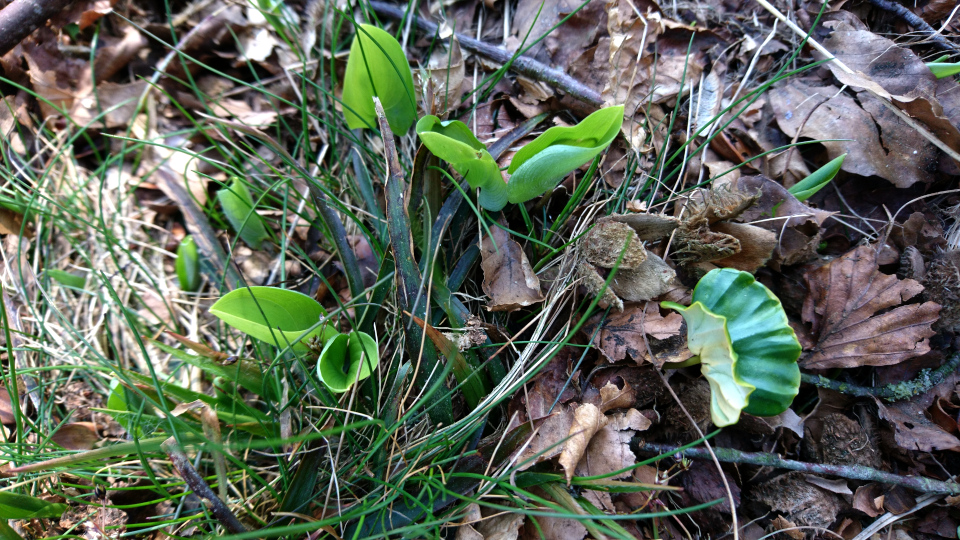
<path fill-rule="evenodd" d="M 600 317 L 587 321 L 584 332 L 592 336 Z M 670 312 L 664 317 L 655 302 L 632 304 L 626 306 L 623 313 L 607 317 L 594 342 L 610 362 L 619 362 L 628 354 L 642 362 L 649 356 L 646 336 L 660 340 L 679 336 L 682 325 L 683 317 L 679 313 Z"/>

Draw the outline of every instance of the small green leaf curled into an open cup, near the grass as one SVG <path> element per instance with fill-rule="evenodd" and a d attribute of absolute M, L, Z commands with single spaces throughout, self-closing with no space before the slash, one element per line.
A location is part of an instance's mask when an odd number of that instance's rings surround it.
<path fill-rule="evenodd" d="M 369 377 L 379 363 L 377 342 L 368 334 L 337 334 L 327 340 L 320 353 L 317 376 L 331 392 L 339 394 Z"/>

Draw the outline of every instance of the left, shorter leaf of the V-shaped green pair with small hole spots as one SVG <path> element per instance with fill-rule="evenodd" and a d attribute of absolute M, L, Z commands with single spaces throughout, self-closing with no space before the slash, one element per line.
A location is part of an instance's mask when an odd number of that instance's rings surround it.
<path fill-rule="evenodd" d="M 417 122 L 417 135 L 433 155 L 449 163 L 473 189 L 480 189 L 478 202 L 497 211 L 507 204 L 507 184 L 487 147 L 459 120 L 441 121 L 424 116 Z"/>

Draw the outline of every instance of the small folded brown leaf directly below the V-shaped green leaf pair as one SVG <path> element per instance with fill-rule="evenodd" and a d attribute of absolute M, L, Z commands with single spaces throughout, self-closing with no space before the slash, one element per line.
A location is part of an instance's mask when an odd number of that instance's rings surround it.
<path fill-rule="evenodd" d="M 543 301 L 540 279 L 533 272 L 520 244 L 503 227 L 491 227 L 480 242 L 483 292 L 490 297 L 489 311 L 516 311 Z M 494 246 L 494 243 L 496 246 Z"/>

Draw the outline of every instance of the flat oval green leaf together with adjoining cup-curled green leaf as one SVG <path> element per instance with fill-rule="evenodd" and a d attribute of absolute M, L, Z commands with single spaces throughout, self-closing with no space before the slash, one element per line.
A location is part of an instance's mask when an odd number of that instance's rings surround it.
<path fill-rule="evenodd" d="M 346 392 L 373 373 L 380 363 L 376 341 L 364 332 L 341 334 L 320 324 L 326 311 L 305 294 L 275 287 L 246 287 L 224 295 L 210 313 L 241 332 L 294 351 L 307 352 L 310 342 L 323 344 L 317 376 L 331 392 Z"/>

